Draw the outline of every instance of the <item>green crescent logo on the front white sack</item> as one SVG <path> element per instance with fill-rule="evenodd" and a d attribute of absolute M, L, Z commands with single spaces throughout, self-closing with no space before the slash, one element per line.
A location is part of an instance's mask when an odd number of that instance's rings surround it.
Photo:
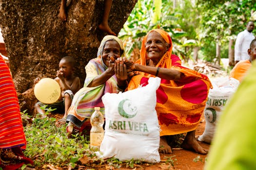
<path fill-rule="evenodd" d="M 137 115 L 137 106 L 132 101 L 125 99 L 118 104 L 118 113 L 124 118 L 133 118 Z"/>

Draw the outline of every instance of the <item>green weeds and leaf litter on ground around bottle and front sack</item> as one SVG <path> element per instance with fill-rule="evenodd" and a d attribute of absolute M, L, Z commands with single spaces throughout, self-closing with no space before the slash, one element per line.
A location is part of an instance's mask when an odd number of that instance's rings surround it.
<path fill-rule="evenodd" d="M 45 111 L 48 115 L 52 109 L 45 109 Z M 25 112 L 21 112 L 23 125 L 25 122 L 24 132 L 27 140 L 24 154 L 34 161 L 33 168 L 36 170 L 49 169 L 49 167 L 63 170 L 84 169 L 85 167 L 93 170 L 107 167 L 113 170 L 120 167 L 135 168 L 144 164 L 134 159 L 125 162 L 116 158 L 100 159 L 89 147 L 89 136 L 77 134 L 68 138 L 66 124 L 56 127 L 56 118 L 49 117 L 34 118 L 31 122 L 31 118 Z M 168 159 L 166 164 L 174 166 L 174 160 Z M 22 169 L 25 167 L 26 165 Z"/>

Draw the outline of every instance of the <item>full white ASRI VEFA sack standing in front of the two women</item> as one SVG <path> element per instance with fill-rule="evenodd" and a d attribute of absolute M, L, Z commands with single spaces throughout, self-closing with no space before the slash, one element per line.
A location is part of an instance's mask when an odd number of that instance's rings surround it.
<path fill-rule="evenodd" d="M 100 146 L 103 158 L 115 156 L 120 161 L 160 161 L 159 125 L 155 110 L 156 90 L 160 78 L 150 78 L 149 84 L 118 94 L 106 93 L 105 135 Z"/>

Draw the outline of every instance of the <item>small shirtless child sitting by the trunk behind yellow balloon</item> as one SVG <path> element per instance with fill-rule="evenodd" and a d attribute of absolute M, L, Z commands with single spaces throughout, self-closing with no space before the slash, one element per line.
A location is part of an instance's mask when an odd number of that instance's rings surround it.
<path fill-rule="evenodd" d="M 79 77 L 74 75 L 74 71 L 75 59 L 73 57 L 65 56 L 59 61 L 59 70 L 57 71 L 57 77 L 54 80 L 57 81 L 60 86 L 61 95 L 59 96 L 57 102 L 48 104 L 47 106 L 48 108 L 51 107 L 52 109 L 57 108 L 57 111 L 60 113 L 64 111 L 63 118 L 56 122 L 56 126 L 66 123 L 67 111 L 71 105 L 74 94 L 76 94 L 76 92 L 80 89 L 80 80 Z M 35 80 L 35 83 L 38 82 L 39 78 Z M 37 102 L 35 104 L 35 110 L 37 113 L 39 113 L 39 115 L 41 115 L 42 118 L 45 116 L 45 111 L 40 107 L 44 105 L 46 104 L 42 102 Z"/>

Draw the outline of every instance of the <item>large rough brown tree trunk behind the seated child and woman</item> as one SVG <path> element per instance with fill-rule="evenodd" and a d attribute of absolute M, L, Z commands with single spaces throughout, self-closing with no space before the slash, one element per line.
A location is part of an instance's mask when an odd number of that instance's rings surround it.
<path fill-rule="evenodd" d="M 85 79 L 84 66 L 97 55 L 98 46 L 106 33 L 98 30 L 104 0 L 68 0 L 68 19 L 59 17 L 61 0 L 0 0 L 0 28 L 4 37 L 11 72 L 17 92 L 23 93 L 33 110 L 36 77 L 56 77 L 59 60 L 66 55 L 77 60 L 76 73 L 81 84 Z M 137 0 L 113 0 L 109 26 L 118 34 Z M 28 89 L 30 91 L 26 92 Z M 35 99 L 35 98 L 34 98 Z M 27 105 L 27 106 L 26 106 Z"/>

